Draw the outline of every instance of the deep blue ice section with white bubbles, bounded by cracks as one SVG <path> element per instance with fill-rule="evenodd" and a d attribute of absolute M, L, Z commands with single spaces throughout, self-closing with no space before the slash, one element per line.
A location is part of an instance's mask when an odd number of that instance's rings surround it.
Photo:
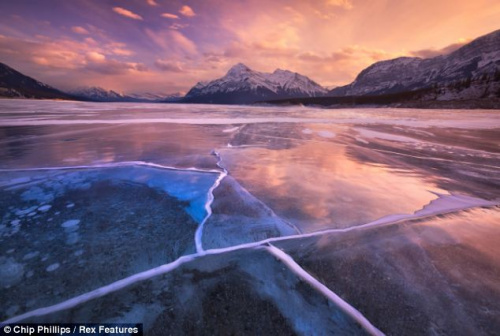
<path fill-rule="evenodd" d="M 194 233 L 219 175 L 124 165 L 12 171 L 0 180 L 17 174 L 38 182 L 9 184 L 1 193 L 2 254 L 13 251 L 1 263 L 9 287 L 0 294 L 4 318 L 9 303 L 22 310 L 33 298 L 35 307 L 53 304 L 194 252 Z M 39 195 L 51 195 L 45 211 L 37 211 Z M 31 276 L 23 278 L 26 270 Z M 83 270 L 89 277 L 82 282 L 74 274 Z"/>

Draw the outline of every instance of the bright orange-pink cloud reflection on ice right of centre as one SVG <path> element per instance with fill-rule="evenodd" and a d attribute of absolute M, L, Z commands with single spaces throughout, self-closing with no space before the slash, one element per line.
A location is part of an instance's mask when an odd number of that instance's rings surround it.
<path fill-rule="evenodd" d="M 231 148 L 221 155 L 246 189 L 305 232 L 412 213 L 436 198 L 429 191 L 444 192 L 417 174 L 352 160 L 345 146 L 330 142 Z"/>

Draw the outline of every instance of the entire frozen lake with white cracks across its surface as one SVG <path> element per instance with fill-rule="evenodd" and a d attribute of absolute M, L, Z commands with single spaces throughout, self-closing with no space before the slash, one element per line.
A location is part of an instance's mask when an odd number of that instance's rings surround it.
<path fill-rule="evenodd" d="M 0 321 L 500 330 L 498 110 L 0 100 L 0 189 Z"/>

